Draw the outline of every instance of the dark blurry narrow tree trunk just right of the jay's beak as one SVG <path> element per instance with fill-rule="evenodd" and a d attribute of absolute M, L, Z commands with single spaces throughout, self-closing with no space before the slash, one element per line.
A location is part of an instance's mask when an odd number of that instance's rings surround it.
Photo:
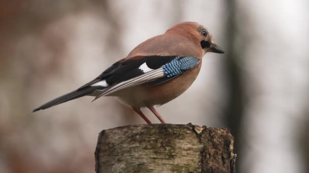
<path fill-rule="evenodd" d="M 241 59 L 241 54 L 237 52 L 237 48 L 242 48 L 237 42 L 236 45 L 236 35 L 237 40 L 239 40 L 239 33 L 237 33 L 237 19 L 236 11 L 237 3 L 235 1 L 226 1 L 227 8 L 227 20 L 226 20 L 226 42 L 227 50 L 226 59 L 224 61 L 224 68 L 226 70 L 226 88 L 227 88 L 227 106 L 225 111 L 223 111 L 223 117 L 225 117 L 227 126 L 231 129 L 231 134 L 235 138 L 235 153 L 240 154 L 240 149 L 242 144 L 239 141 L 240 138 L 240 126 L 241 119 L 243 116 L 243 85 L 241 84 L 241 70 L 237 65 L 237 60 Z M 243 43 L 240 43 L 243 44 Z M 239 166 L 236 165 L 238 168 Z M 238 170 L 238 169 L 237 169 Z M 238 172 L 238 171 L 236 171 Z"/>

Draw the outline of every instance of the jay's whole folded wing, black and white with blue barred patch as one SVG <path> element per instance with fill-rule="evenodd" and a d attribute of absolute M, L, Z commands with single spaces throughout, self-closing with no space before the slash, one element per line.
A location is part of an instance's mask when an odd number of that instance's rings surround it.
<path fill-rule="evenodd" d="M 147 86 L 161 84 L 173 79 L 195 67 L 199 63 L 196 57 L 178 56 L 136 56 L 128 60 L 120 60 L 105 70 L 96 79 L 81 86 L 102 86 L 101 96 L 142 83 Z"/>

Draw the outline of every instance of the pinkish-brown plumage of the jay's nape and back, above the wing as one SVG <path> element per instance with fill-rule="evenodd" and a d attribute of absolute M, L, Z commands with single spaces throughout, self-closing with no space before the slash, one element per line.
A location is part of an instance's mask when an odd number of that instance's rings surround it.
<path fill-rule="evenodd" d="M 201 25 L 195 22 L 183 22 L 168 29 L 164 34 L 154 36 L 134 48 L 126 59 L 135 56 L 178 55 L 180 57 L 194 56 L 202 59 L 202 39 L 196 29 Z"/>

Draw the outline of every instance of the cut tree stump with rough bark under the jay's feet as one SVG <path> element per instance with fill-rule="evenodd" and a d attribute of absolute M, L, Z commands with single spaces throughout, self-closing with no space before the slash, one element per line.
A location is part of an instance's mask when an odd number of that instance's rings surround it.
<path fill-rule="evenodd" d="M 192 124 L 129 125 L 102 131 L 96 172 L 234 172 L 228 129 Z"/>

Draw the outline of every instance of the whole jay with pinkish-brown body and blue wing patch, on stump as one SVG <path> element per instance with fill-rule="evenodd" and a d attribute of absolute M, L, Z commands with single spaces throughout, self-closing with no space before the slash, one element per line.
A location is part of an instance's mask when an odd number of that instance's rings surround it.
<path fill-rule="evenodd" d="M 116 97 L 130 106 L 148 124 L 141 111 L 147 107 L 166 123 L 154 106 L 180 96 L 195 81 L 207 52 L 223 54 L 207 28 L 197 22 L 178 23 L 161 35 L 135 47 L 98 77 L 73 92 L 57 97 L 33 110 L 36 112 L 83 96 Z"/>

